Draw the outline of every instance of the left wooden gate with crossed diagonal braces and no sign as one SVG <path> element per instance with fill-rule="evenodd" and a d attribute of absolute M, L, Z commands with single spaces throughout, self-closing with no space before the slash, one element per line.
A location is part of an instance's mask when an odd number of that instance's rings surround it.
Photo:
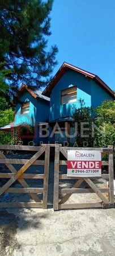
<path fill-rule="evenodd" d="M 15 145 L 0 145 L 1 150 L 21 150 L 21 151 L 37 151 L 31 159 L 7 159 L 3 152 L 0 150 L 0 163 L 5 163 L 10 173 L 1 173 L 0 178 L 9 179 L 5 185 L 0 188 L 0 196 L 3 193 L 29 193 L 31 199 L 35 202 L 32 203 L 6 203 L 1 202 L 0 207 L 3 208 L 47 208 L 48 200 L 48 177 L 49 177 L 49 155 L 50 155 L 50 145 L 46 144 L 43 147 L 31 147 L 31 146 L 15 146 Z M 42 153 L 45 152 L 45 160 L 37 160 Z M 18 171 L 14 168 L 12 164 L 23 164 L 23 167 Z M 31 165 L 44 166 L 44 174 L 25 174 L 27 168 Z M 43 188 L 31 188 L 29 187 L 27 181 L 24 179 L 44 179 Z M 22 185 L 23 188 L 10 187 L 16 180 Z M 43 193 L 42 201 L 39 199 L 37 193 Z"/>

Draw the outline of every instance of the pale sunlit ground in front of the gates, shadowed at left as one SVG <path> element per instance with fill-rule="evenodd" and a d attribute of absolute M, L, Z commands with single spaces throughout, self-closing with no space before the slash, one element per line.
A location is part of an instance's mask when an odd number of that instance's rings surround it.
<path fill-rule="evenodd" d="M 115 255 L 115 209 L 5 209 L 1 256 Z"/>

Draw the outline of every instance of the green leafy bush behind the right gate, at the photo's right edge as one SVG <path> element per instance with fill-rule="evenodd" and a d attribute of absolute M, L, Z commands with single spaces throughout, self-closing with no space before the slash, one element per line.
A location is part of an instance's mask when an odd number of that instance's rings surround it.
<path fill-rule="evenodd" d="M 80 108 L 74 109 L 74 120 L 78 122 L 78 132 L 75 142 L 78 146 L 83 147 L 83 141 L 87 142 L 88 147 L 107 147 L 115 146 L 115 101 L 104 101 L 97 109 L 85 106 L 84 100 L 79 100 Z M 81 123 L 88 122 L 82 137 Z M 74 123 L 73 123 L 74 126 Z M 83 125 L 85 128 L 85 123 Z M 92 127 L 95 127 L 94 132 Z"/>

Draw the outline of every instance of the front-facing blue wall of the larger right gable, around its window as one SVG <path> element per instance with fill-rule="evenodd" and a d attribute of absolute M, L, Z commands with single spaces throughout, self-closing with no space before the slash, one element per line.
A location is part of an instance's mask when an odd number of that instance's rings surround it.
<path fill-rule="evenodd" d="M 61 105 L 61 90 L 67 89 L 71 86 L 77 87 L 76 102 Z M 50 95 L 50 117 L 49 120 L 60 117 L 66 117 L 73 114 L 73 104 L 79 108 L 78 100 L 82 98 L 86 102 L 86 106 L 91 106 L 91 84 L 85 76 L 80 75 L 74 71 L 68 71 L 58 81 L 57 85 L 53 88 Z"/>

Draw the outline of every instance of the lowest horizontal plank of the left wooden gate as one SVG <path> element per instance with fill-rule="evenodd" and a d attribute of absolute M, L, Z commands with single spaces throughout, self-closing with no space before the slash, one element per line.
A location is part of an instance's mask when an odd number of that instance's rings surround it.
<path fill-rule="evenodd" d="M 42 208 L 42 203 L 0 203 L 0 208 Z"/>

